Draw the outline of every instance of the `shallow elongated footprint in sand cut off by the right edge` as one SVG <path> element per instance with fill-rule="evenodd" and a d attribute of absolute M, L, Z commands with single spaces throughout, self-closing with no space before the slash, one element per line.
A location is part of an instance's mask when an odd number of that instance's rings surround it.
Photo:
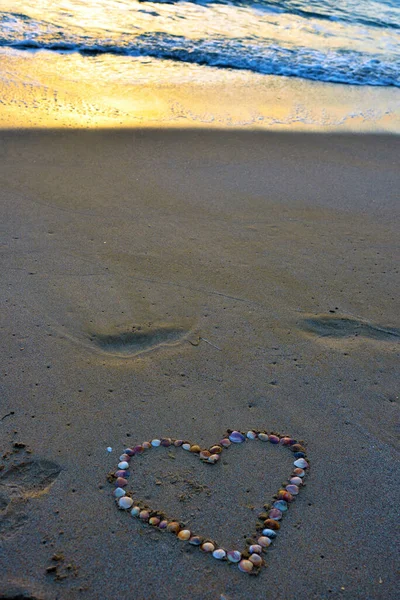
<path fill-rule="evenodd" d="M 374 325 L 351 317 L 316 315 L 304 319 L 302 327 L 305 331 L 318 337 L 364 337 L 381 342 L 397 342 L 400 338 L 400 329 L 398 328 Z"/>

